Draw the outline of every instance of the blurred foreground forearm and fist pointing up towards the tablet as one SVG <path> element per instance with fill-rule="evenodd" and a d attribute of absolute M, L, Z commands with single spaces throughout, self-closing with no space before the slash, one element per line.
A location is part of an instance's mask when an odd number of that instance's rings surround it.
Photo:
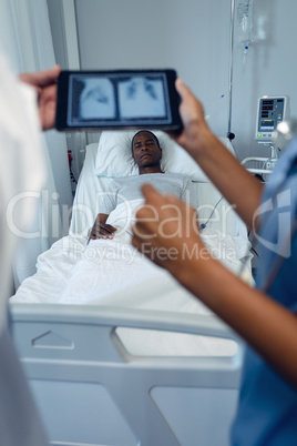
<path fill-rule="evenodd" d="M 136 213 L 133 245 L 166 268 L 297 388 L 296 315 L 212 257 L 199 236 L 194 209 L 147 184 L 143 193 L 145 205 Z"/>

